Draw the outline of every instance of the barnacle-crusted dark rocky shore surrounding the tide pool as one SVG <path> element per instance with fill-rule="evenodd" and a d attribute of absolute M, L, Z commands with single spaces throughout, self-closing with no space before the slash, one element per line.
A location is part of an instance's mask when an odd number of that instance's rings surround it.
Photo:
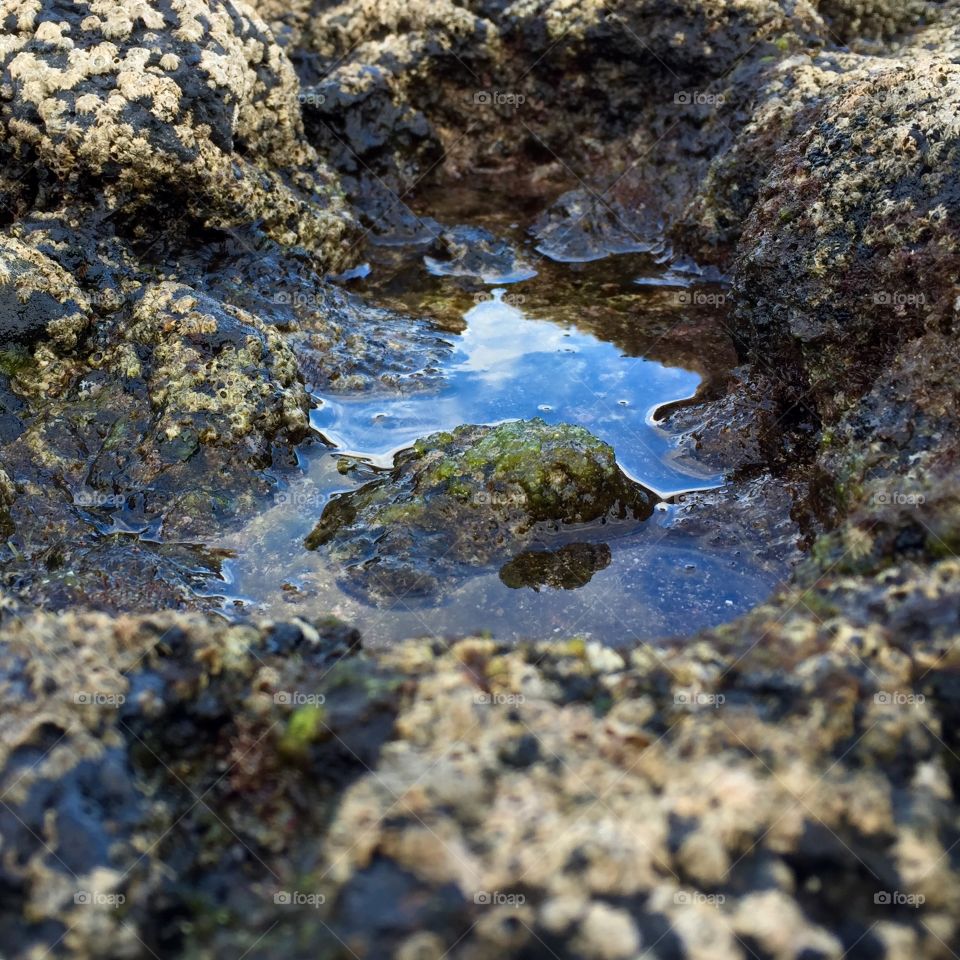
<path fill-rule="evenodd" d="M 6 956 L 960 949 L 955 4 L 2 9 Z M 691 522 L 789 520 L 791 582 L 621 650 L 211 615 L 185 545 L 295 469 L 309 388 L 443 349 L 325 277 L 490 170 L 576 182 L 557 255 L 729 276 L 741 365 L 668 423 L 729 470 Z"/>

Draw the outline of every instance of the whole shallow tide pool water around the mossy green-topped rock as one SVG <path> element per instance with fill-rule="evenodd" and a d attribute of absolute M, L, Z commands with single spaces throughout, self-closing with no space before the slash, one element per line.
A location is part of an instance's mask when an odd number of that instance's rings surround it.
<path fill-rule="evenodd" d="M 245 614 L 333 614 L 371 643 L 562 631 L 620 644 L 716 624 L 762 600 L 782 571 L 755 562 L 749 549 L 684 535 L 674 524 L 675 502 L 660 503 L 640 530 L 611 538 L 609 563 L 569 589 L 512 588 L 496 569 L 478 569 L 440 599 L 379 608 L 341 589 L 342 571 L 304 549 L 333 494 L 389 468 L 393 454 L 417 438 L 463 423 L 539 416 L 582 425 L 664 498 L 723 483 L 680 456 L 655 418 L 658 408 L 689 400 L 706 378 L 734 365 L 722 285 L 703 283 L 657 251 L 551 262 L 526 239 L 528 214 L 491 210 L 476 193 L 444 201 L 510 239 L 521 265 L 463 276 L 431 255 L 433 221 L 424 221 L 424 242 L 370 245 L 369 262 L 342 283 L 369 302 L 433 320 L 450 346 L 428 378 L 440 386 L 418 381 L 407 393 L 316 395 L 320 442 L 305 449 L 302 473 L 271 509 L 212 545 L 233 559 L 223 568 L 226 584 L 211 592 L 228 594 L 228 607 Z M 446 224 L 464 222 L 442 212 Z"/>

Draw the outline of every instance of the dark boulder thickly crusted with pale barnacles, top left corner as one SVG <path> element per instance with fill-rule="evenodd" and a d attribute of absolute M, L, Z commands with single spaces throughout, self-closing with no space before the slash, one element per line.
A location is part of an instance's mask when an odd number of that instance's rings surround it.
<path fill-rule="evenodd" d="M 262 219 L 339 263 L 349 215 L 303 139 L 293 68 L 250 7 L 44 2 L 8 28 L 3 154 L 34 157 L 49 190 L 128 215 Z"/>

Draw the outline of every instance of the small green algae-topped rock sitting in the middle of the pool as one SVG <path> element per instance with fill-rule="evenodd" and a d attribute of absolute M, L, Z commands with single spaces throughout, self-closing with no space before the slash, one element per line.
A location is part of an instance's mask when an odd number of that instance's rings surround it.
<path fill-rule="evenodd" d="M 582 427 L 464 426 L 419 441 L 388 476 L 334 497 L 306 545 L 346 567 L 354 587 L 400 599 L 532 542 L 603 540 L 607 521 L 642 521 L 654 502 Z"/>

